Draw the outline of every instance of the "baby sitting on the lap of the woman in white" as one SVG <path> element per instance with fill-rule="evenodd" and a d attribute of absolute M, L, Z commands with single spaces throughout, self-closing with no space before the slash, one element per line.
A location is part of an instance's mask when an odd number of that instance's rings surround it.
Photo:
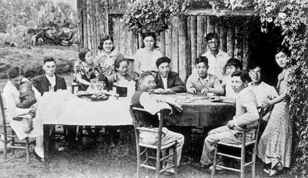
<path fill-rule="evenodd" d="M 34 105 L 37 100 L 35 98 L 35 93 L 32 90 L 32 84 L 30 81 L 23 81 L 19 85 L 20 95 L 19 99 L 20 102 L 17 104 L 18 108 L 30 108 Z M 24 133 L 29 133 L 33 130 L 33 118 L 35 117 L 35 112 L 29 111 L 26 115 L 28 127 L 25 129 Z"/>

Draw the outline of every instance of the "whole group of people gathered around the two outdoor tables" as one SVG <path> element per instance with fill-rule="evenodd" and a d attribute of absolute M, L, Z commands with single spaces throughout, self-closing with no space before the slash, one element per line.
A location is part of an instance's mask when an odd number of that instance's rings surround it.
<path fill-rule="evenodd" d="M 261 123 L 261 134 L 258 145 L 258 156 L 264 162 L 264 171 L 269 175 L 276 174 L 283 167 L 290 166 L 292 121 L 289 117 L 288 85 L 290 52 L 284 47 L 277 48 L 275 60 L 283 69 L 279 75 L 277 87 L 262 81 L 262 67 L 253 63 L 248 71 L 242 71 L 242 63 L 219 50 L 219 36 L 215 33 L 206 35 L 208 51 L 195 59 L 195 69 L 184 83 L 176 72 L 171 71 L 171 59 L 157 50 L 156 35 L 146 33 L 142 36 L 143 45 L 134 55 L 134 72 L 129 73 L 129 61 L 114 47 L 111 36 L 101 40 L 97 56 L 91 50 L 82 48 L 79 61 L 74 65 L 74 80 L 78 82 L 78 90 L 86 91 L 92 79 L 103 83 L 110 90 L 119 81 L 137 81 L 138 90 L 132 97 L 131 104 L 148 110 L 155 115 L 162 108 L 170 109 L 174 105 L 179 111 L 183 108 L 173 98 L 160 94 L 184 93 L 208 95 L 212 102 L 229 102 L 236 106 L 236 114 L 227 126 L 211 130 L 204 140 L 200 163 L 211 167 L 214 143 L 218 140 L 228 143 L 241 142 L 241 126 L 254 128 L 258 124 L 257 106 L 265 110 Z M 23 114 L 26 120 L 13 120 L 12 128 L 20 139 L 37 137 L 35 153 L 44 158 L 42 128 L 35 117 L 37 103 L 50 87 L 54 91 L 66 90 L 63 77 L 55 74 L 56 63 L 52 57 L 43 61 L 44 75 L 34 77 L 32 83 L 23 77 L 20 67 L 12 67 L 8 71 L 10 79 L 4 88 L 4 99 L 8 108 L 8 118 Z M 155 129 L 158 127 L 156 117 L 137 121 L 138 126 Z M 25 127 L 26 126 L 26 127 Z M 65 128 L 70 130 L 69 127 Z M 264 132 L 263 132 L 264 131 Z M 177 141 L 177 165 L 180 163 L 184 136 L 163 128 L 162 143 Z M 254 137 L 254 129 L 247 134 L 247 139 Z M 142 142 L 155 143 L 157 137 L 152 132 L 140 133 Z M 218 164 L 223 164 L 222 160 Z M 167 165 L 168 166 L 168 165 Z M 169 171 L 172 172 L 172 169 Z"/>

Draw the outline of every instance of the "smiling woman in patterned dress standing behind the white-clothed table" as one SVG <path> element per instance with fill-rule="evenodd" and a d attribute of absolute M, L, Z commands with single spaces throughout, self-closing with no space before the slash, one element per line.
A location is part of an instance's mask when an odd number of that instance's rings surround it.
<path fill-rule="evenodd" d="M 119 53 L 115 50 L 113 37 L 109 35 L 103 37 L 98 48 L 101 50 L 101 53 L 95 57 L 95 65 L 98 66 L 101 74 L 106 76 L 114 74 L 114 60 Z"/>

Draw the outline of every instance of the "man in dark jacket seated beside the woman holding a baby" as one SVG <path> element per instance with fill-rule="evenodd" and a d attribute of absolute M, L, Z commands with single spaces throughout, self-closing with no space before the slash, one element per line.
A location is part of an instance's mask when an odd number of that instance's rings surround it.
<path fill-rule="evenodd" d="M 43 96 L 44 92 L 49 91 L 49 86 L 53 88 L 53 91 L 57 90 L 66 90 L 66 82 L 65 79 L 61 76 L 55 74 L 56 66 L 55 61 L 52 57 L 44 58 L 43 69 L 45 74 L 39 75 L 33 78 L 32 83 L 37 88 L 37 90 Z"/>

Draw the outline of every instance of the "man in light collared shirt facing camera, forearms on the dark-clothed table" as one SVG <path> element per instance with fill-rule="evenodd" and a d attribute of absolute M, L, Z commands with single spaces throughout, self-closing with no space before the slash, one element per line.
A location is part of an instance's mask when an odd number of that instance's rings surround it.
<path fill-rule="evenodd" d="M 205 56 L 196 58 L 195 67 L 198 74 L 192 74 L 188 77 L 186 82 L 186 90 L 188 93 L 196 95 L 206 95 L 207 93 L 214 93 L 217 95 L 224 95 L 224 89 L 217 76 L 208 74 L 208 60 Z"/>

